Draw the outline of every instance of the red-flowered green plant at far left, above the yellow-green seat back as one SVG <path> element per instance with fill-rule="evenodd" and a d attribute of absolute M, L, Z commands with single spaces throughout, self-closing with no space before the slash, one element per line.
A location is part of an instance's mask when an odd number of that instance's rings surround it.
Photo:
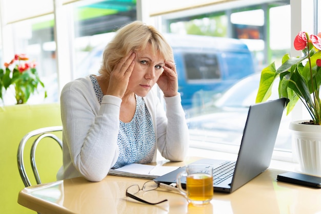
<path fill-rule="evenodd" d="M 36 63 L 27 62 L 27 60 L 29 58 L 24 54 L 15 54 L 9 63 L 5 63 L 5 70 L 0 69 L 0 98 L 2 100 L 3 92 L 7 91 L 10 85 L 14 86 L 17 104 L 26 103 L 30 95 L 37 92 L 38 85 L 45 88 L 36 71 Z M 45 91 L 46 97 L 47 92 Z"/>

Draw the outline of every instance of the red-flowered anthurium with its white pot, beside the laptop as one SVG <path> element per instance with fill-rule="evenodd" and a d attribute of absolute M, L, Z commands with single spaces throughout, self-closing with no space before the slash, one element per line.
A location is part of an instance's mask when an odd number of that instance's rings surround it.
<path fill-rule="evenodd" d="M 275 69 L 274 62 L 263 69 L 256 102 L 263 102 L 271 95 L 272 84 L 279 77 L 279 97 L 289 99 L 287 114 L 298 100 L 308 110 L 309 120 L 293 121 L 290 129 L 298 153 L 300 169 L 304 173 L 321 175 L 321 34 L 309 35 L 299 32 L 294 39 L 294 48 L 302 56 L 282 58 L 282 65 Z"/>

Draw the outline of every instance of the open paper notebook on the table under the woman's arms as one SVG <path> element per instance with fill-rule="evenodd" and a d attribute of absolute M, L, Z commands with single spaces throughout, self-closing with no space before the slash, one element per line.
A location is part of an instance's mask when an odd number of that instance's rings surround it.
<path fill-rule="evenodd" d="M 154 179 L 179 168 L 178 166 L 153 166 L 131 163 L 117 169 L 109 169 L 108 175 Z"/>

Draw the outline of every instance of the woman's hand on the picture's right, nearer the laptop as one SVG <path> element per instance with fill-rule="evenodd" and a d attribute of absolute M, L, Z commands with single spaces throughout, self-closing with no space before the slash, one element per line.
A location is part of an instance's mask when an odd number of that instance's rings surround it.
<path fill-rule="evenodd" d="M 173 97 L 178 94 L 178 79 L 175 63 L 165 61 L 164 72 L 157 80 L 158 87 L 163 91 L 165 97 Z"/>

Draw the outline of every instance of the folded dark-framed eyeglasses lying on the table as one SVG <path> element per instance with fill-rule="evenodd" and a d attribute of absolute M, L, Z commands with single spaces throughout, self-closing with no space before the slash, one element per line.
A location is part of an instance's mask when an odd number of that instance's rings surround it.
<path fill-rule="evenodd" d="M 135 196 L 135 194 L 137 194 L 137 192 L 139 192 L 140 190 L 150 191 L 150 190 L 157 189 L 157 187 L 158 187 L 158 184 L 154 181 L 147 181 L 146 183 L 144 183 L 143 188 L 139 188 L 139 186 L 137 184 L 134 184 L 126 189 L 126 196 L 128 196 L 129 198 L 135 199 L 137 201 L 140 201 L 140 202 L 143 202 L 146 204 L 151 204 L 151 205 L 160 204 L 160 203 L 167 201 L 167 199 L 165 199 L 165 200 L 157 202 L 157 203 L 152 203 L 152 202 L 145 201 L 144 199 L 141 199 L 141 198 L 138 198 L 137 196 Z"/>

